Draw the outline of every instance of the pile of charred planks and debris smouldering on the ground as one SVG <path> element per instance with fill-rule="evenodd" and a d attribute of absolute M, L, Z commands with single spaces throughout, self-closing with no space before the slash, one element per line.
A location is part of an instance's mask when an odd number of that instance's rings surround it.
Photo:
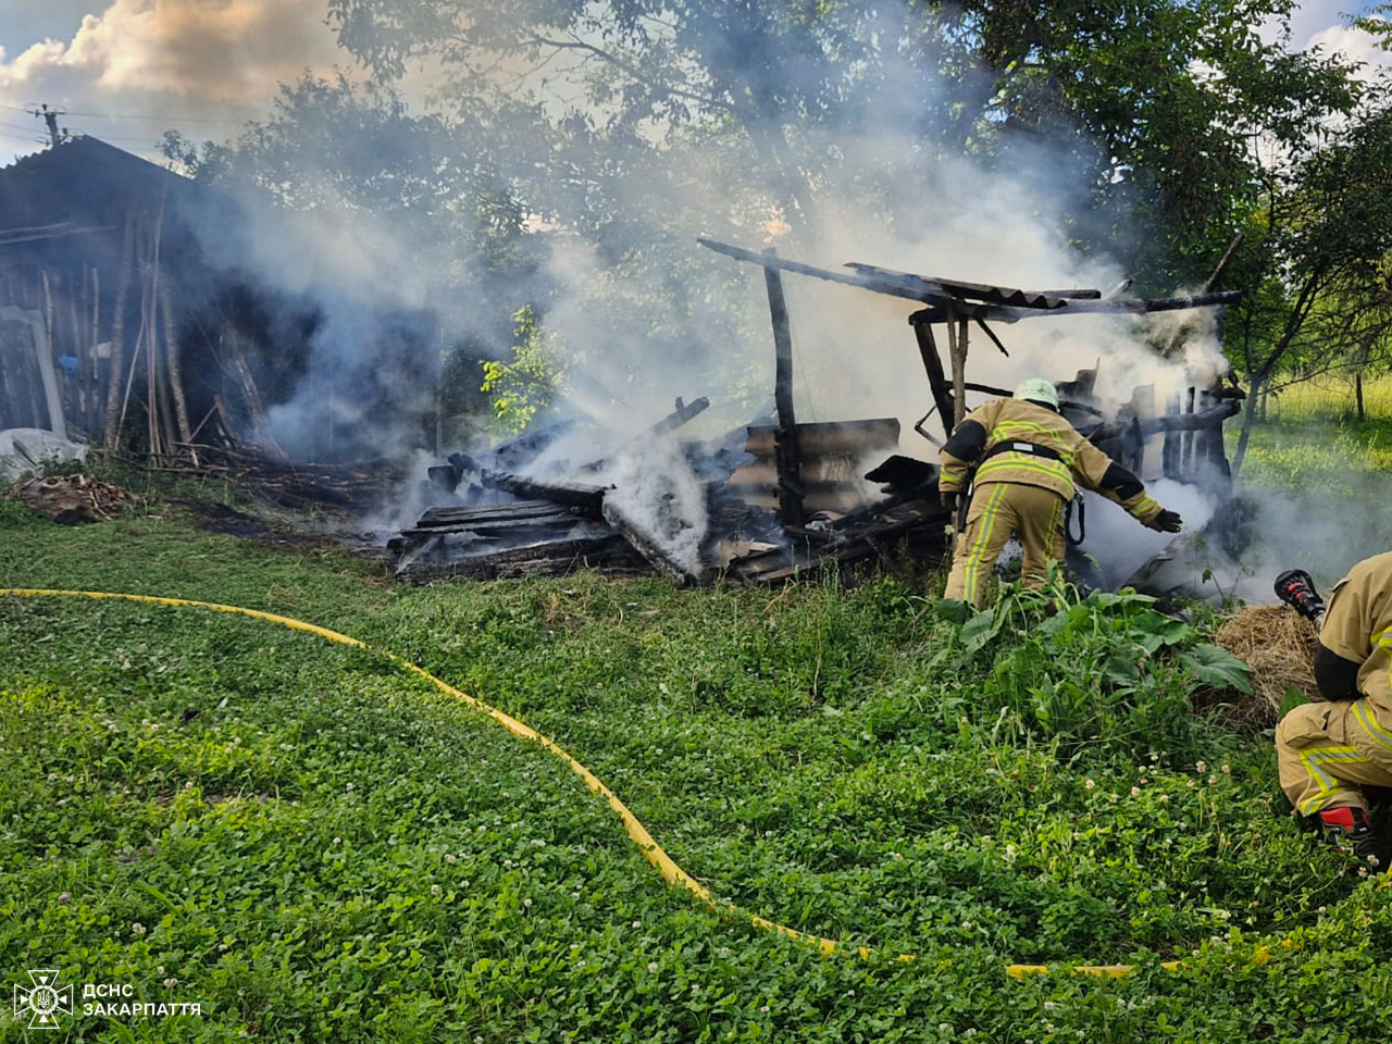
<path fill-rule="evenodd" d="M 557 477 L 546 465 L 540 475 L 529 470 L 543 450 L 562 444 L 564 426 L 477 457 L 454 454 L 430 469 L 434 498 L 451 503 L 427 508 L 388 541 L 397 578 L 427 583 L 594 568 L 679 583 L 715 575 L 767 583 L 906 543 L 941 554 L 937 469 L 894 457 L 906 466 L 864 477 L 866 461 L 898 444 L 896 420 L 800 426 L 805 523 L 782 526 L 773 427 L 752 425 L 713 443 L 670 438 L 704 405 L 678 400 L 640 438 L 574 469 L 593 482 Z M 518 472 L 501 470 L 503 462 Z"/>

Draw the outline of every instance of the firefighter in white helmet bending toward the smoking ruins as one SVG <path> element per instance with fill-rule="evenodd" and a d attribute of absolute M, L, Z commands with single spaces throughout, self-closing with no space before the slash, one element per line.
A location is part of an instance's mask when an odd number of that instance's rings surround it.
<path fill-rule="evenodd" d="M 956 511 L 973 465 L 972 504 L 958 533 L 944 596 L 981 606 L 986 579 L 1011 535 L 1025 548 L 1022 578 L 1043 583 L 1048 562 L 1063 558 L 1063 509 L 1076 486 L 1121 504 L 1141 523 L 1178 533 L 1180 518 L 1146 494 L 1140 479 L 1080 436 L 1058 412 L 1054 384 L 1034 377 L 1013 398 L 962 418 L 941 452 L 938 494 Z"/>

